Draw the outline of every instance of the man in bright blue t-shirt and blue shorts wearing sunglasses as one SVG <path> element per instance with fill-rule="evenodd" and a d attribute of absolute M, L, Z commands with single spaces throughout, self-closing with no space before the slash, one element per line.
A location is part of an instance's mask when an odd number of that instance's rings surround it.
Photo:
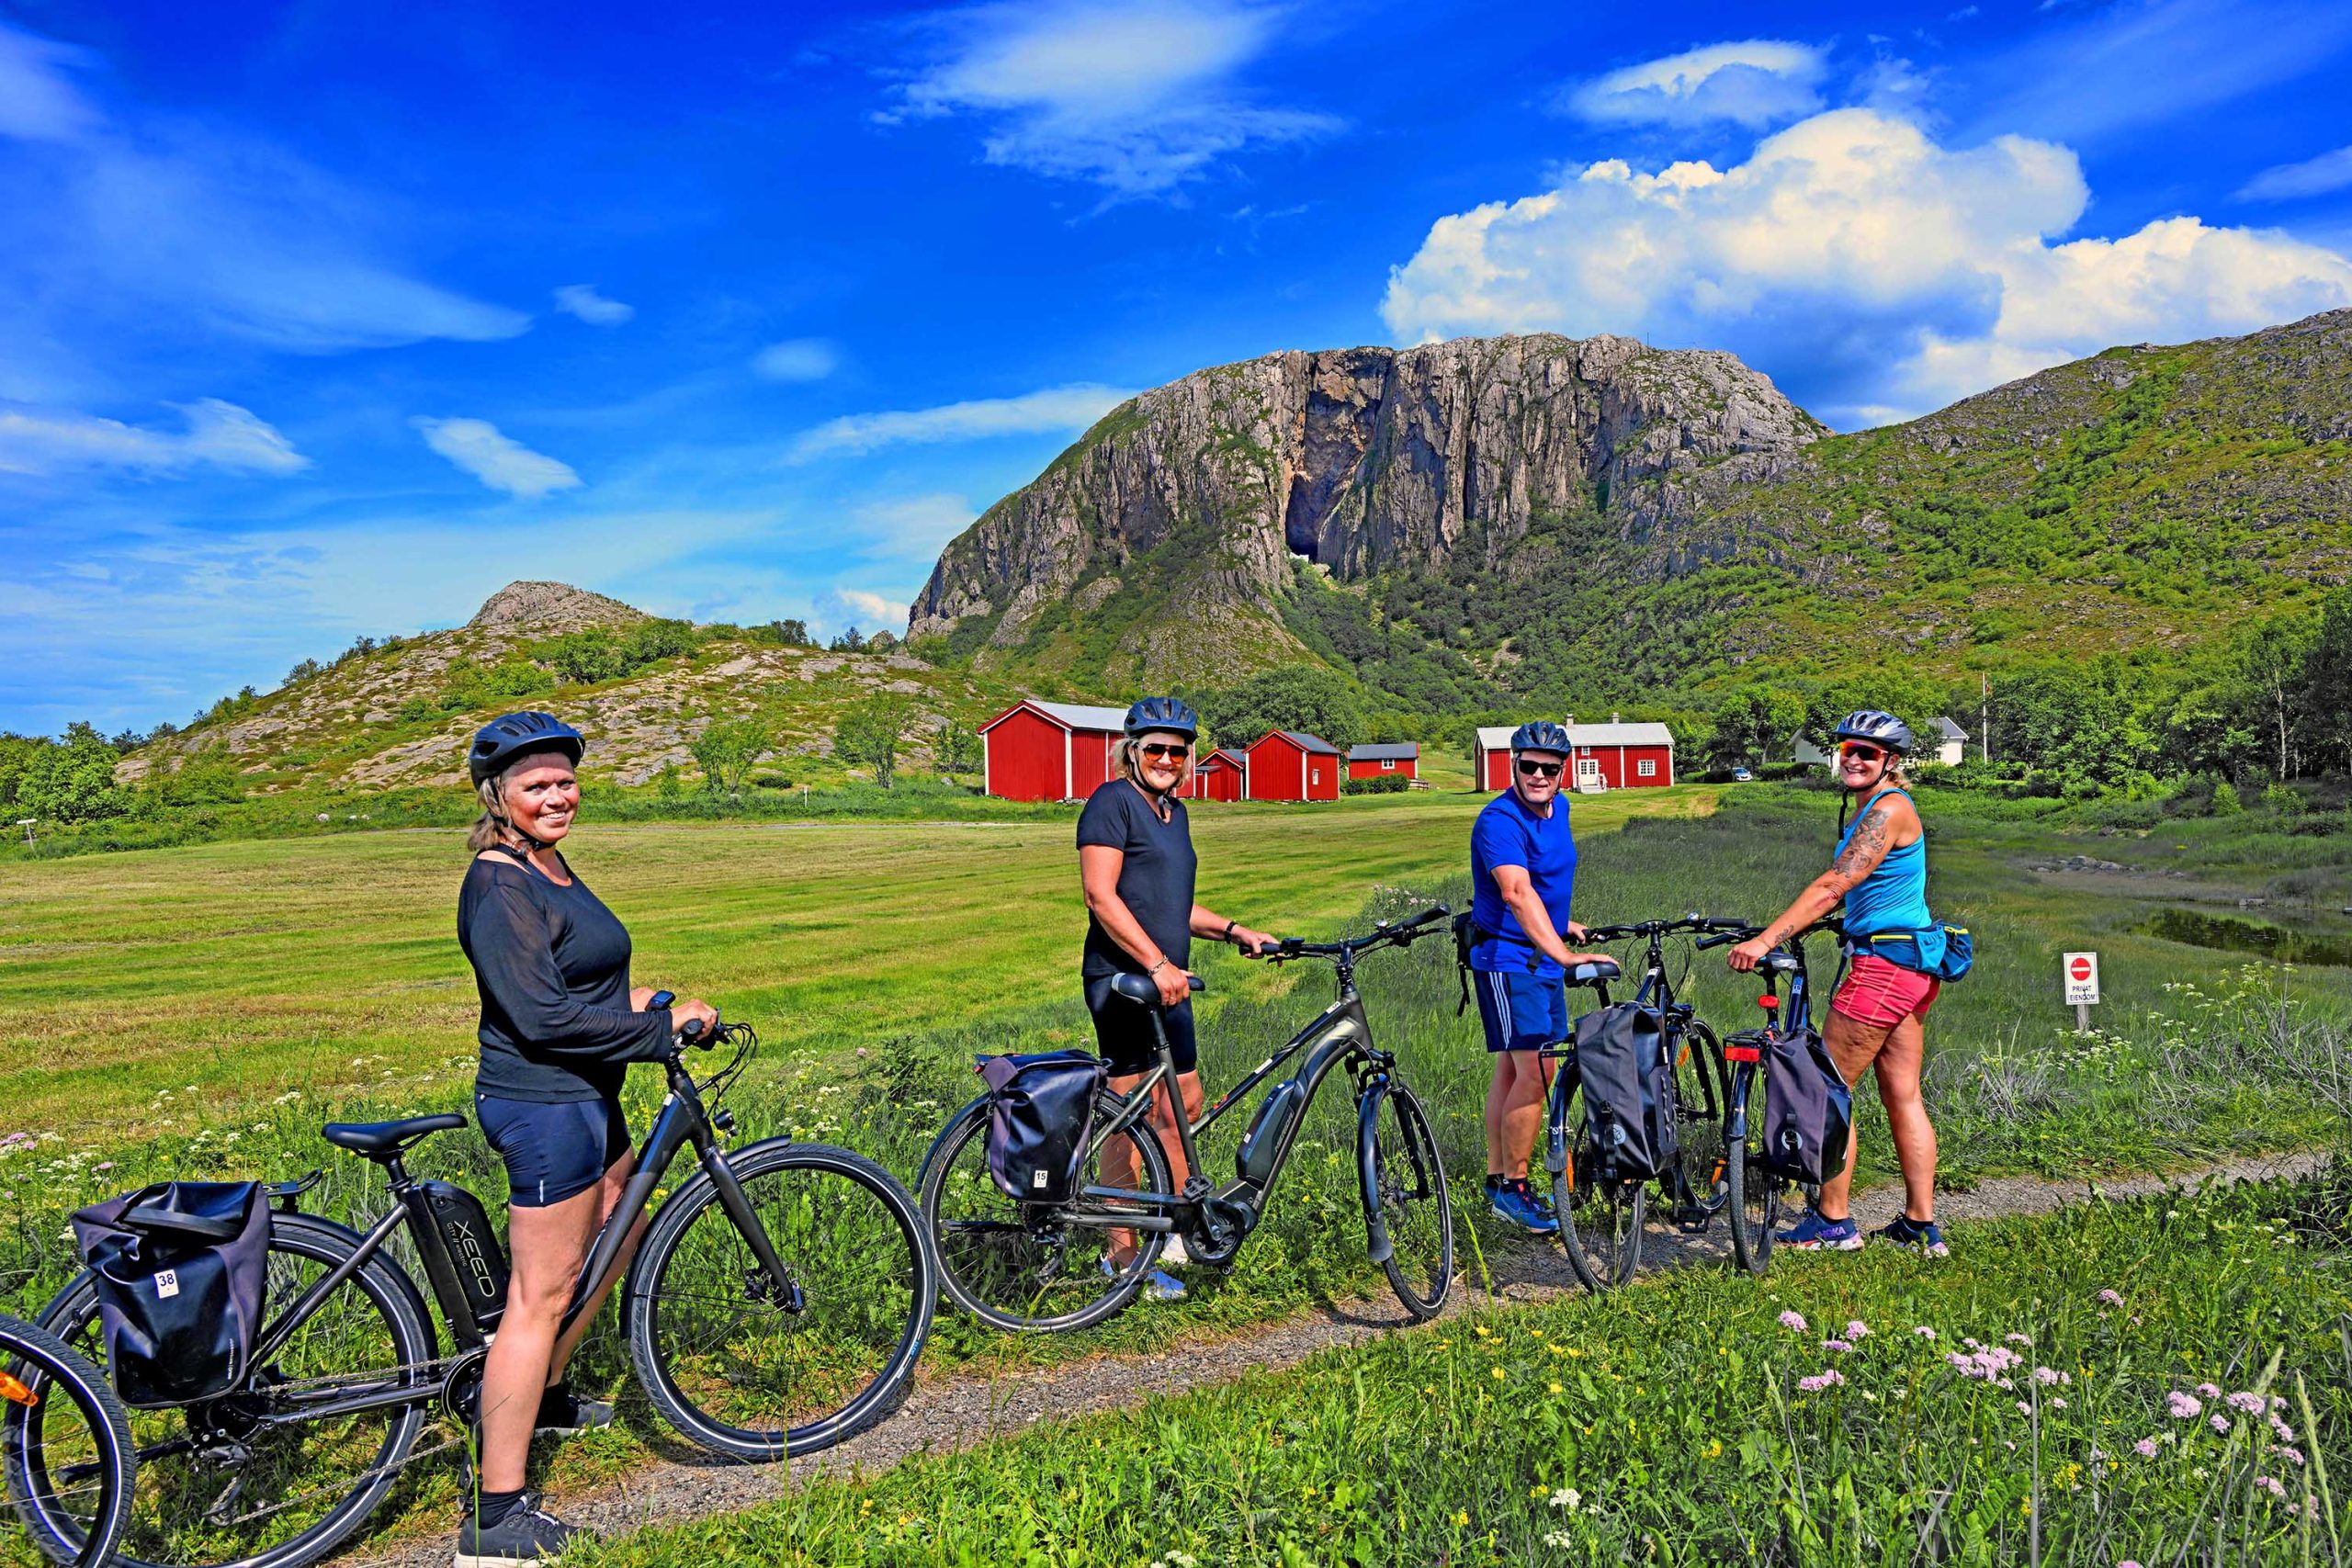
<path fill-rule="evenodd" d="M 1559 1220 L 1526 1185 L 1526 1161 L 1543 1131 L 1543 1046 L 1569 1034 L 1569 943 L 1585 929 L 1569 919 L 1576 889 L 1576 837 L 1559 799 L 1573 748 L 1550 719 L 1510 736 L 1510 788 L 1486 802 L 1470 830 L 1470 924 L 1477 945 L 1477 1016 L 1494 1053 L 1486 1086 L 1486 1201 L 1538 1237 Z M 1566 940 L 1562 940 L 1566 938 Z"/>

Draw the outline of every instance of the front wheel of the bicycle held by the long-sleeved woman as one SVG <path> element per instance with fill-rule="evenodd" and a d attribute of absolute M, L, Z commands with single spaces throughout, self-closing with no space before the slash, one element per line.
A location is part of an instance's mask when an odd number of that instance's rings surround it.
<path fill-rule="evenodd" d="M 717 1182 L 696 1171 L 654 1211 L 628 1274 L 637 1382 L 666 1422 L 713 1453 L 764 1462 L 830 1448 L 896 1408 L 931 1338 L 938 1267 L 922 1215 L 889 1171 L 823 1143 L 757 1143 L 731 1152 L 727 1168 L 804 1302 L 757 1298 L 750 1246 Z M 903 1262 L 891 1246 L 906 1248 Z M 720 1335 L 691 1356 L 673 1342 L 694 1324 L 687 1302 L 720 1307 Z M 774 1333 L 746 1335 L 755 1321 Z M 870 1359 L 880 1363 L 868 1371 Z M 835 1399 L 842 1389 L 849 1399 Z M 783 1425 L 739 1425 L 769 1408 Z"/>

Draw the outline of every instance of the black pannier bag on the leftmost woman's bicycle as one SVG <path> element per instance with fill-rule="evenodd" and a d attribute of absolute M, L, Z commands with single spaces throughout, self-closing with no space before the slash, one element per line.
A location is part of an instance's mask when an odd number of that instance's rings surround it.
<path fill-rule="evenodd" d="M 122 1403 L 183 1406 L 245 1380 L 270 1274 L 261 1182 L 155 1182 L 78 1211 L 73 1239 Z"/>

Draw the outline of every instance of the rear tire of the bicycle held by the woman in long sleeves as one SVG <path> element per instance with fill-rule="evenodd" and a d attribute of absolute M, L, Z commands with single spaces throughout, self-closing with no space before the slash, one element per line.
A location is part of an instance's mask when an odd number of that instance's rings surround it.
<path fill-rule="evenodd" d="M 266 1300 L 294 1302 L 303 1286 L 318 1274 L 332 1272 L 360 1246 L 360 1237 L 346 1227 L 303 1213 L 270 1215 L 270 1286 Z M 318 1269 L 313 1274 L 310 1269 Z M 353 1295 L 355 1291 L 355 1295 Z M 334 1319 L 325 1314 L 334 1312 Z M 89 1356 L 103 1359 L 99 1342 L 99 1302 L 89 1274 L 80 1274 L 59 1291 L 40 1312 L 40 1326 L 56 1333 L 66 1345 Z M 320 1371 L 318 1359 L 346 1352 L 353 1340 L 362 1345 L 367 1366 Z M 96 1352 L 96 1354 L 92 1354 Z M 186 1408 L 132 1410 L 132 1436 L 139 1448 L 139 1483 L 132 1500 L 132 1519 L 115 1561 L 125 1568 L 306 1568 L 334 1552 L 367 1516 L 383 1502 L 400 1479 L 416 1432 L 426 1422 L 426 1403 L 437 1396 L 440 1380 L 430 1380 L 433 1394 L 421 1394 L 412 1406 L 369 1410 L 353 1418 L 341 1432 L 360 1432 L 348 1448 L 367 1448 L 367 1427 L 383 1418 L 383 1436 L 372 1443 L 358 1462 L 358 1486 L 310 1519 L 303 1528 L 285 1537 L 266 1537 L 259 1547 L 254 1535 L 233 1535 L 233 1526 L 249 1521 L 280 1521 L 289 1509 L 313 1495 L 327 1495 L 332 1486 L 296 1490 L 285 1502 L 254 1505 L 249 1490 L 254 1481 L 285 1476 L 289 1462 L 306 1448 L 318 1448 L 310 1422 L 256 1427 L 261 1434 L 289 1434 L 289 1443 L 247 1443 L 245 1434 L 233 1446 L 207 1453 L 195 1446 L 198 1429 L 219 1429 L 221 1420 L 252 1410 L 266 1410 L 273 1387 L 306 1382 L 313 1378 L 355 1380 L 379 1385 L 383 1380 L 412 1380 L 409 1368 L 433 1361 L 433 1328 L 423 1316 L 416 1286 L 383 1253 L 369 1258 L 350 1279 L 332 1291 L 294 1335 L 270 1356 L 268 1366 L 252 1366 L 230 1394 Z M 306 1382 L 308 1385 L 308 1382 Z M 195 1413 L 195 1420 L 191 1420 Z M 38 1439 L 35 1439 L 38 1441 Z M 303 1460 L 315 1462 L 313 1458 Z M 303 1472 L 308 1474 L 308 1472 Z M 219 1509 L 235 1497 L 245 1514 L 226 1526 L 209 1523 L 205 1507 Z M 179 1516 L 172 1509 L 188 1509 Z M 301 1516 L 296 1516 L 299 1521 Z M 226 1547 L 226 1552 L 223 1552 Z"/>

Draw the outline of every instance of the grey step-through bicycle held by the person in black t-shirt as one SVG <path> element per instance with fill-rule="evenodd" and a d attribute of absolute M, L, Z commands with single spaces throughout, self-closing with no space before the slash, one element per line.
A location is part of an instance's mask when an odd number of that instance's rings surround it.
<path fill-rule="evenodd" d="M 1454 1281 L 1454 1201 L 1446 1194 L 1437 1140 L 1421 1100 L 1397 1072 L 1397 1058 L 1371 1044 L 1371 1020 L 1355 990 L 1355 966 L 1381 947 L 1409 947 L 1444 919 L 1444 905 L 1338 943 L 1282 938 L 1261 950 L 1275 964 L 1329 959 L 1338 999 L 1225 1091 L 1200 1121 L 1176 1117 L 1176 1140 L 1192 1175 L 1171 1192 L 1169 1159 L 1145 1124 L 1152 1093 L 1176 1095 L 1160 990 L 1145 976 L 1120 976 L 1112 990 L 1152 1018 L 1157 1060 L 1124 1095 L 1096 1100 L 1096 1131 L 1084 1154 L 1077 1194 L 1063 1204 L 1004 1197 L 988 1173 L 988 1095 L 955 1112 L 922 1161 L 922 1218 L 938 1251 L 948 1298 L 997 1328 L 1068 1333 L 1089 1328 L 1127 1307 L 1150 1279 L 1169 1234 L 1181 1234 L 1192 1262 L 1223 1267 L 1256 1229 L 1296 1147 L 1308 1105 L 1341 1065 L 1355 1079 L 1357 1190 L 1364 1201 L 1367 1251 L 1388 1274 L 1397 1300 L 1416 1319 L 1437 1316 Z M 1192 980 L 1200 990 L 1200 980 Z M 1298 1072 L 1258 1103 L 1242 1138 L 1237 1175 L 1214 1187 L 1202 1175 L 1200 1135 L 1242 1095 L 1305 1053 Z M 1181 1103 L 1181 1100 L 1178 1100 Z M 1103 1150 L 1124 1138 L 1143 1187 L 1101 1180 Z M 1103 1232 L 1127 1229 L 1141 1241 L 1124 1267 L 1103 1255 Z"/>

